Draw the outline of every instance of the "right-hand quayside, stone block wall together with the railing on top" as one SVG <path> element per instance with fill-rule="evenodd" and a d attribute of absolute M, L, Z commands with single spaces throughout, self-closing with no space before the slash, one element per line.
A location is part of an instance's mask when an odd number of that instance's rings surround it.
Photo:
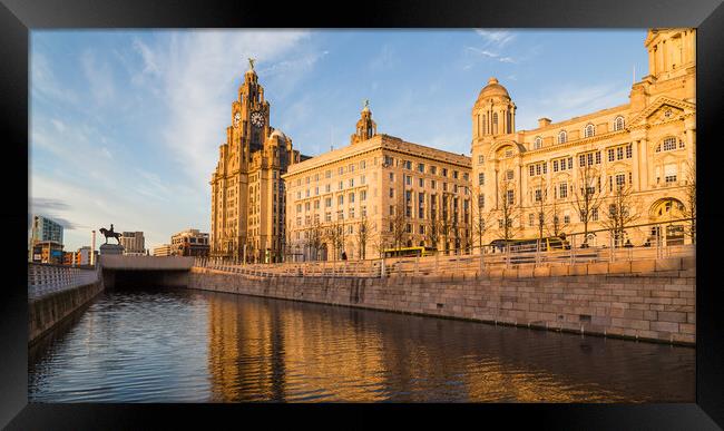
<path fill-rule="evenodd" d="M 665 343 L 696 339 L 693 245 L 267 265 L 197 259 L 188 286 Z"/>

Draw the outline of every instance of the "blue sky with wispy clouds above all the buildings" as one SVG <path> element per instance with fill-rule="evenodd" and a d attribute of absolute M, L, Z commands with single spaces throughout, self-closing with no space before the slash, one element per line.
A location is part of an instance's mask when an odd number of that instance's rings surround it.
<path fill-rule="evenodd" d="M 143 231 L 146 247 L 209 232 L 211 174 L 247 58 L 271 126 L 315 156 L 349 144 L 370 100 L 378 133 L 470 153 L 471 109 L 490 77 L 516 127 L 628 102 L 647 75 L 637 30 L 33 30 L 31 214 L 90 232 Z M 102 243 L 97 239 L 97 244 Z M 112 242 L 112 239 L 111 239 Z"/>

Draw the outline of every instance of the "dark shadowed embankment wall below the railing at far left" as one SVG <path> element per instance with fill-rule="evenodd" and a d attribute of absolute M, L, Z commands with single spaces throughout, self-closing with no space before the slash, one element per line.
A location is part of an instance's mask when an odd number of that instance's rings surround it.
<path fill-rule="evenodd" d="M 101 281 L 28 302 L 28 343 L 32 344 L 104 290 Z"/>

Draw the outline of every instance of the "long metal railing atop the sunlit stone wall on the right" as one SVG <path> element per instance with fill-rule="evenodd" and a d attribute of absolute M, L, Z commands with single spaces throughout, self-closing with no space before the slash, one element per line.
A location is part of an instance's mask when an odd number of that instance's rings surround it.
<path fill-rule="evenodd" d="M 696 246 L 686 236 L 646 235 L 652 226 L 667 224 L 644 224 L 629 226 L 619 235 L 610 229 L 589 231 L 588 241 L 584 233 L 567 235 L 562 246 L 546 249 L 539 241 L 532 245 L 483 245 L 470 247 L 468 254 L 446 255 L 441 252 L 427 257 L 388 257 L 364 261 L 312 261 L 276 264 L 244 264 L 239 261 L 197 257 L 195 266 L 209 270 L 245 274 L 260 277 L 275 276 L 322 276 L 322 277 L 385 277 L 451 274 L 480 274 L 492 268 L 520 266 L 554 266 L 580 263 L 646 261 L 666 257 L 695 256 Z M 638 231 L 636 231 L 638 229 Z M 644 232 L 640 232 L 644 229 Z M 606 233 L 607 235 L 600 235 Z M 618 236 L 618 239 L 616 239 Z M 634 241 L 632 241 L 632 237 Z"/>

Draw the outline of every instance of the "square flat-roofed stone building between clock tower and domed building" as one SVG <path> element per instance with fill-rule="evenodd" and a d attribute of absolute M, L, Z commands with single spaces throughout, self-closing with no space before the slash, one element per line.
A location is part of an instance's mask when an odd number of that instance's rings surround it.
<path fill-rule="evenodd" d="M 378 134 L 368 104 L 350 145 L 290 166 L 284 179 L 292 259 L 470 248 L 470 158 Z"/>

